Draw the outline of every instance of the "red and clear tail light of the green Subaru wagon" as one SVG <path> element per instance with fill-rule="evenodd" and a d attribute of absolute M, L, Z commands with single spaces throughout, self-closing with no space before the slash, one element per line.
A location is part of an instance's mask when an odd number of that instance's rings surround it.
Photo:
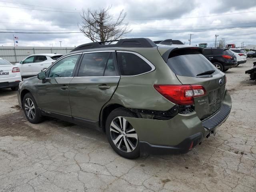
<path fill-rule="evenodd" d="M 169 101 L 179 105 L 194 104 L 194 97 L 206 95 L 202 85 L 154 85 L 154 88 Z"/>

